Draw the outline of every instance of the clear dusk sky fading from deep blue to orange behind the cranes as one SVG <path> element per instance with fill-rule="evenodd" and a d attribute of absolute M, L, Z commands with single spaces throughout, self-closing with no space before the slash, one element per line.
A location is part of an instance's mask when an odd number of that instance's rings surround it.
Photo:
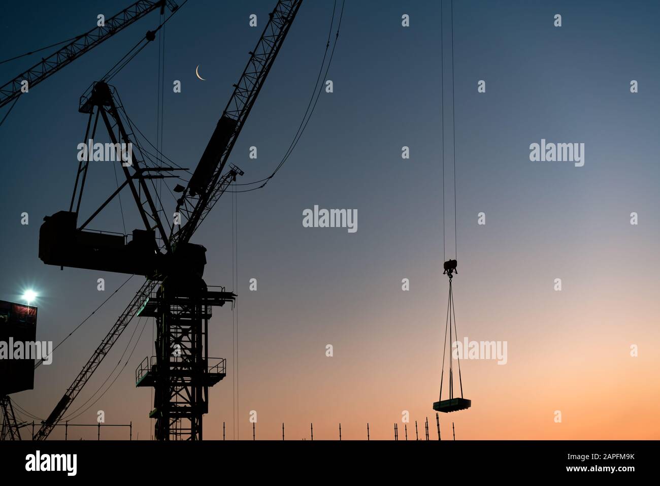
<path fill-rule="evenodd" d="M 0 18 L 0 57 L 75 36 L 128 1 L 11 3 Z M 460 439 L 660 438 L 660 6 L 647 1 L 457 1 L 454 10 L 459 337 L 507 341 L 508 363 L 463 361 L 467 411 L 442 415 Z M 194 168 L 275 0 L 190 0 L 166 25 L 164 146 Z M 447 248 L 453 246 L 451 58 L 445 1 Z M 285 153 L 321 63 L 332 1 L 302 5 L 230 162 L 242 182 L 270 174 Z M 259 28 L 249 28 L 256 13 Z M 401 26 L 401 15 L 411 26 Z M 563 26 L 553 26 L 554 14 Z M 44 215 L 67 209 L 86 116 L 79 96 L 145 31 L 152 13 L 22 96 L 0 127 L 2 279 L 0 298 L 38 290 L 38 337 L 59 342 L 127 277 L 44 265 Z M 335 24 L 336 25 L 336 24 Z M 393 437 L 401 413 L 423 431 L 438 399 L 447 279 L 442 275 L 440 5 L 436 1 L 350 1 L 323 92 L 293 155 L 259 191 L 238 195 L 238 417 L 251 439 Z M 334 36 L 333 28 L 333 36 Z M 0 65 L 3 83 L 38 61 Z M 195 67 L 207 79 L 195 78 Z M 182 81 L 182 93 L 172 81 Z M 477 81 L 486 81 L 486 93 Z M 640 92 L 630 93 L 630 80 Z M 158 44 L 113 80 L 125 109 L 156 139 Z M 3 116 L 7 108 L 3 108 Z M 541 139 L 585 143 L 585 165 L 530 162 Z M 259 158 L 248 158 L 256 145 Z M 402 160 L 401 147 L 411 148 Z M 82 211 L 114 190 L 109 165 L 94 166 Z M 126 226 L 139 227 L 129 195 Z M 302 211 L 358 210 L 358 231 L 303 228 Z M 28 212 L 30 224 L 20 225 Z M 477 213 L 486 225 L 477 225 Z M 639 225 L 630 225 L 630 213 Z M 106 214 L 107 213 L 107 214 Z M 94 228 L 121 231 L 116 203 Z M 101 226 L 103 225 L 103 227 Z M 223 197 L 195 234 L 207 247 L 205 280 L 232 287 L 231 198 Z M 96 279 L 106 279 L 106 291 Z M 248 291 L 257 278 L 258 291 Z M 411 281 L 401 291 L 401 279 Z M 562 291 L 553 289 L 562 279 Z M 36 372 L 35 389 L 14 396 L 46 417 L 123 310 L 138 277 L 88 320 Z M 149 438 L 150 392 L 134 370 L 151 354 L 152 322 L 135 320 L 69 409 L 135 352 L 104 396 L 75 419 L 133 421 Z M 136 328 L 136 326 L 139 326 Z M 133 341 L 129 339 L 137 329 Z M 232 438 L 232 311 L 218 308 L 209 355 L 228 358 L 211 390 L 205 438 Z M 334 357 L 325 357 L 325 345 Z M 630 345 L 639 356 L 630 357 Z M 117 368 L 117 370 L 119 369 Z M 235 368 L 234 368 L 235 369 Z M 114 380 L 117 372 L 108 380 Z M 105 388 L 103 388 L 104 390 Z M 93 400 L 92 400 L 93 401 Z M 92 403 L 90 401 L 87 405 Z M 87 407 L 85 405 L 84 408 Z M 562 423 L 554 423 L 554 411 Z M 403 438 L 403 425 L 400 437 Z M 96 431 L 73 433 L 95 438 Z M 106 438 L 127 438 L 104 431 Z M 52 434 L 63 437 L 62 431 Z"/>

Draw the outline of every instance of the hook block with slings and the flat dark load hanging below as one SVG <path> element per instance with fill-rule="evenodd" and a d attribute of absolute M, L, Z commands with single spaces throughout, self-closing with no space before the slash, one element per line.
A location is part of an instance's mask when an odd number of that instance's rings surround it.
<path fill-rule="evenodd" d="M 442 372 L 440 374 L 440 396 L 438 397 L 438 401 L 433 403 L 433 409 L 439 412 L 455 412 L 459 410 L 465 410 L 471 407 L 472 401 L 463 398 L 463 380 L 461 379 L 461 357 L 457 355 L 456 361 L 458 363 L 458 380 L 459 380 L 459 386 L 461 388 L 461 397 L 454 397 L 453 393 L 453 357 L 451 354 L 451 343 L 453 343 L 453 338 L 458 337 L 457 331 L 456 331 L 456 313 L 454 310 L 454 305 L 453 305 L 453 291 L 451 288 L 451 279 L 453 278 L 454 273 L 458 273 L 456 271 L 457 267 L 457 261 L 456 260 L 447 260 L 444 263 L 444 269 L 445 271 L 443 272 L 443 275 L 447 275 L 449 277 L 449 297 L 447 298 L 447 319 L 445 322 L 445 339 L 443 343 L 443 353 L 442 353 Z M 453 329 L 452 329 L 453 325 Z M 447 344 L 447 330 L 449 330 L 449 343 Z M 447 347 L 445 347 L 447 345 Z M 445 357 L 446 357 L 446 351 L 447 348 L 449 349 L 449 392 L 448 398 L 442 399 L 442 386 L 444 384 L 444 374 L 445 374 Z"/>

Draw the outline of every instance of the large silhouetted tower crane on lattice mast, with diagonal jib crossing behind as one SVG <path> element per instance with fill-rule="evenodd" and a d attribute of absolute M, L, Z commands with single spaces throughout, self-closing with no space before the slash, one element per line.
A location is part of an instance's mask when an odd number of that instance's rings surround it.
<path fill-rule="evenodd" d="M 136 370 L 136 386 L 155 389 L 154 408 L 149 416 L 156 419 L 156 439 L 201 440 L 202 416 L 208 411 L 208 388 L 222 380 L 226 372 L 223 359 L 207 355 L 207 324 L 211 308 L 233 304 L 236 294 L 224 288 L 209 291 L 202 278 L 206 249 L 189 240 L 228 186 L 244 174 L 233 164 L 225 170 L 228 158 L 301 4 L 302 0 L 279 0 L 269 14 L 263 34 L 249 52 L 248 64 L 234 85 L 187 187 L 175 188 L 181 196 L 172 223 L 160 219 L 147 182 L 167 177 L 164 174 L 178 169 L 150 167 L 139 150 L 134 152 L 130 166 L 121 164 L 125 182 L 84 222 L 79 223 L 79 211 L 88 157 L 79 164 L 69 211 L 44 218 L 39 236 L 39 256 L 44 263 L 144 275 L 147 280 L 44 421 L 35 440 L 48 438 L 137 315 L 156 318 L 156 355 L 147 357 Z M 116 89 L 104 81 L 94 83 L 82 96 L 79 112 L 88 114 L 85 140 L 94 138 L 99 120 L 113 144 L 135 140 Z M 133 230 L 128 242 L 124 235 L 86 230 L 90 221 L 125 187 L 135 199 L 145 228 Z"/>

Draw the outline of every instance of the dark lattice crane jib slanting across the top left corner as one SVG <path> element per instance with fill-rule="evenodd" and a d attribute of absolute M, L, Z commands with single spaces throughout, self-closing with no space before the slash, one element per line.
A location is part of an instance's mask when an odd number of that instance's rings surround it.
<path fill-rule="evenodd" d="M 24 81 L 28 82 L 28 88 L 34 87 L 150 12 L 160 8 L 160 13 L 163 13 L 166 6 L 172 13 L 178 9 L 178 5 L 172 0 L 139 0 L 117 15 L 104 20 L 102 26 L 97 26 L 75 37 L 72 42 L 69 42 L 63 48 L 43 58 L 30 69 L 1 86 L 0 108 L 12 100 L 16 100 L 22 94 L 21 88 Z M 145 38 L 149 41 L 154 40 L 154 32 L 147 31 Z"/>

